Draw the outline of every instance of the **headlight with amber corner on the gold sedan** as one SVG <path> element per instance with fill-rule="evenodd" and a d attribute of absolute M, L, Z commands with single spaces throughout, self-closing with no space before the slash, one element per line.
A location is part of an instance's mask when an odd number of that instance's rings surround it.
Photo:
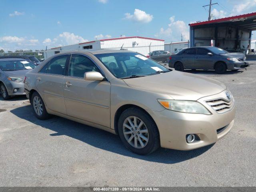
<path fill-rule="evenodd" d="M 211 113 L 199 102 L 184 100 L 162 100 L 158 102 L 166 109 L 183 113 L 200 113 L 210 115 Z"/>

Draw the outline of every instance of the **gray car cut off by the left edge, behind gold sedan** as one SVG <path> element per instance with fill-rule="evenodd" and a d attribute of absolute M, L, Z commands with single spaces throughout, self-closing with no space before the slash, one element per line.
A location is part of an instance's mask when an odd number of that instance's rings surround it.
<path fill-rule="evenodd" d="M 35 64 L 24 59 L 0 59 L 0 90 L 4 100 L 25 94 L 24 76 L 35 67 Z"/>

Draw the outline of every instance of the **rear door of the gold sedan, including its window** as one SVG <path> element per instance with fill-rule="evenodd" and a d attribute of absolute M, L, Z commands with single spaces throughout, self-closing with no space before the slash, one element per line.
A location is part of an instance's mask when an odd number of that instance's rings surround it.
<path fill-rule="evenodd" d="M 61 55 L 52 58 L 36 74 L 36 88 L 41 93 L 47 108 L 55 112 L 66 114 L 63 98 L 63 80 L 65 65 L 68 63 L 69 55 Z"/>

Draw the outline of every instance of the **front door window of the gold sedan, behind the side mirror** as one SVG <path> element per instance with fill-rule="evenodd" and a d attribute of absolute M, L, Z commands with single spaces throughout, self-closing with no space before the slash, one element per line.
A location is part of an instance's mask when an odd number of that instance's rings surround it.
<path fill-rule="evenodd" d="M 70 59 L 68 76 L 84 78 L 85 72 L 100 72 L 98 67 L 88 57 L 73 54 Z"/>

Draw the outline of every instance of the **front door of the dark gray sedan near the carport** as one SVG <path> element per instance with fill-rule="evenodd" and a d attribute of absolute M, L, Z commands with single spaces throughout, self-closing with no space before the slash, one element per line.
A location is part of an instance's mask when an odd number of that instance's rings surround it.
<path fill-rule="evenodd" d="M 194 67 L 196 69 L 214 69 L 214 56 L 207 55 L 206 48 L 197 48 Z"/>

